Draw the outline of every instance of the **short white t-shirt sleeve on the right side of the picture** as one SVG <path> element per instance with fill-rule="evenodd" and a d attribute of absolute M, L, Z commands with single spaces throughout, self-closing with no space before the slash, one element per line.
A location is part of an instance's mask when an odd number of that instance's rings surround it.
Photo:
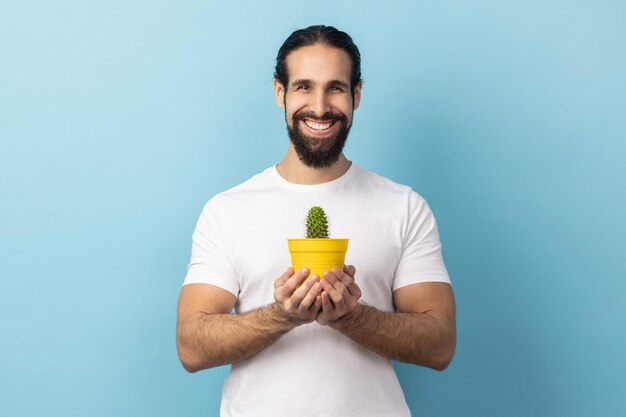
<path fill-rule="evenodd" d="M 450 283 L 443 263 L 435 217 L 428 203 L 414 191 L 408 201 L 402 252 L 393 278 L 393 291 L 420 282 Z"/>

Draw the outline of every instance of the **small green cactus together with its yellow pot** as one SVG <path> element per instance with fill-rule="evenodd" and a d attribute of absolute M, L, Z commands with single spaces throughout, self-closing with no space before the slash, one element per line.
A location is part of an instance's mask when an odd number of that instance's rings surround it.
<path fill-rule="evenodd" d="M 306 237 L 287 239 L 294 271 L 309 268 L 309 275 L 317 274 L 320 279 L 324 272 L 337 267 L 343 269 L 348 239 L 331 239 L 328 232 L 328 219 L 324 209 L 311 207 L 306 218 Z"/>

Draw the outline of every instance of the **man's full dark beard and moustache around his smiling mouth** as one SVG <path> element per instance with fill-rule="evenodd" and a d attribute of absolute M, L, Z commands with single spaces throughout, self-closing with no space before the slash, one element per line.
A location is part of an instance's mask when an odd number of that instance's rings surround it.
<path fill-rule="evenodd" d="M 311 119 L 315 121 L 332 120 L 339 123 L 339 130 L 332 136 L 315 138 L 304 134 L 300 129 L 300 120 Z M 348 140 L 350 127 L 347 117 L 342 113 L 326 112 L 317 117 L 312 112 L 296 112 L 292 116 L 293 127 L 287 123 L 289 140 L 293 143 L 296 154 L 302 163 L 310 168 L 327 168 L 339 160 L 339 155 Z"/>

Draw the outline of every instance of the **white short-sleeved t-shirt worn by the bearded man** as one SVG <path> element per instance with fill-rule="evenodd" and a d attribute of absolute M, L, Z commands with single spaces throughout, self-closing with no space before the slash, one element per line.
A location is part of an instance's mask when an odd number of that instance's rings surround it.
<path fill-rule="evenodd" d="M 360 302 L 395 311 L 393 291 L 450 282 L 426 201 L 356 164 L 336 180 L 293 184 L 270 167 L 213 197 L 193 234 L 184 284 L 237 296 L 244 313 L 274 302 L 274 280 L 291 265 L 288 238 L 302 238 L 312 206 L 324 208 L 330 237 L 350 239 Z M 299 326 L 232 365 L 223 417 L 409 416 L 391 361 L 316 322 Z"/>

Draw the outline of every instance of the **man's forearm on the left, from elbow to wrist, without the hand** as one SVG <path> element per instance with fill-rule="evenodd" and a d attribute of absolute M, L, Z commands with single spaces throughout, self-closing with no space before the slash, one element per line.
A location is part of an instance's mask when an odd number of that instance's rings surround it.
<path fill-rule="evenodd" d="M 249 358 L 294 327 L 276 304 L 245 314 L 196 313 L 178 326 L 178 354 L 196 372 Z"/>

